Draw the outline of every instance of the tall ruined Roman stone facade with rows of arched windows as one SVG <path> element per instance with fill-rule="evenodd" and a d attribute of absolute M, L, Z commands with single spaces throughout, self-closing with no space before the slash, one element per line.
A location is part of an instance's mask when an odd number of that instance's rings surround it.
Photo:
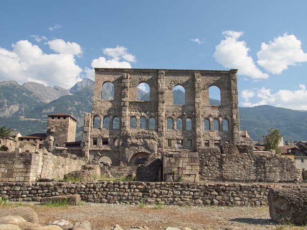
<path fill-rule="evenodd" d="M 133 165 L 164 151 L 238 144 L 236 69 L 95 69 L 92 113 L 84 116 L 83 152 L 92 163 Z M 138 95 L 146 83 L 149 94 Z M 182 87 L 183 100 L 175 101 Z M 220 105 L 210 105 L 218 87 Z"/>

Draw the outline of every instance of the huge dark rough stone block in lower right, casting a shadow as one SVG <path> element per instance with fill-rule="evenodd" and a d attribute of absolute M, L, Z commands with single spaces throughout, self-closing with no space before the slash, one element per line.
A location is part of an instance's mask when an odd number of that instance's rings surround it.
<path fill-rule="evenodd" d="M 274 222 L 307 224 L 307 188 L 271 188 L 268 202 Z"/>

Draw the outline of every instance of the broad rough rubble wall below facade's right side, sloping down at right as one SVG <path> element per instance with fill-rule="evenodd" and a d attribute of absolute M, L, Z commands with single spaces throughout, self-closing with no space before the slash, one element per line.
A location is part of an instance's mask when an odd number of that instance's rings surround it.
<path fill-rule="evenodd" d="M 225 145 L 224 145 L 225 146 Z M 296 182 L 301 175 L 294 162 L 272 153 L 254 153 L 250 145 L 199 148 L 201 181 Z M 227 146 L 227 145 L 226 145 Z M 224 148 L 223 148 L 224 147 Z"/>

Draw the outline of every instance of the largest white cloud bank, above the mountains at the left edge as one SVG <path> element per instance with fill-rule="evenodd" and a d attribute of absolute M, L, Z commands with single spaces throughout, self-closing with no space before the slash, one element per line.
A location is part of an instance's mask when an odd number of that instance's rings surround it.
<path fill-rule="evenodd" d="M 48 86 L 72 87 L 82 69 L 72 54 L 46 54 L 27 40 L 12 45 L 12 50 L 0 48 L 0 80 L 19 83 L 35 81 Z"/>

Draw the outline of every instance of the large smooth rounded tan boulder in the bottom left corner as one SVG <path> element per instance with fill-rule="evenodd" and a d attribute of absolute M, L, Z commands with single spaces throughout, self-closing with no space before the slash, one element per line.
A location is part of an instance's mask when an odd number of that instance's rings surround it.
<path fill-rule="evenodd" d="M 6 208 L 1 210 L 0 217 L 8 215 L 21 216 L 27 222 L 31 222 L 33 224 L 39 224 L 37 214 L 30 207 L 14 207 L 14 208 Z"/>

